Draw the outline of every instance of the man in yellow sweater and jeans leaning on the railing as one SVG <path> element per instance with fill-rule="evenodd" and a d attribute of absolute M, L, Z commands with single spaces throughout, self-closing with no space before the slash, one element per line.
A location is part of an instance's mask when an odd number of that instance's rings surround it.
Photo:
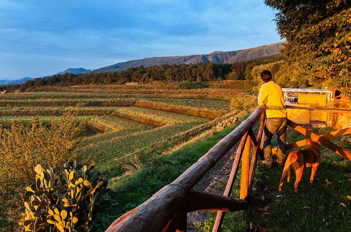
<path fill-rule="evenodd" d="M 268 168 L 272 164 L 277 164 L 278 167 L 284 167 L 285 150 L 286 150 L 286 107 L 283 97 L 283 91 L 278 84 L 272 80 L 272 74 L 269 70 L 261 72 L 261 79 L 264 82 L 261 85 L 258 94 L 258 104 L 266 105 L 266 125 L 263 129 L 263 151 L 265 160 L 263 164 Z M 274 132 L 277 133 L 278 151 L 276 160 L 272 159 L 271 140 Z"/>

